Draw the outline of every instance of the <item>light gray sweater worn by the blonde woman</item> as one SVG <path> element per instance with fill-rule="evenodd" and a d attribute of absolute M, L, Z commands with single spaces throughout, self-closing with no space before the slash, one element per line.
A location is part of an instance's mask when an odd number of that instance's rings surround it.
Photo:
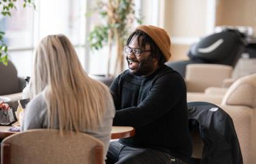
<path fill-rule="evenodd" d="M 92 135 L 93 137 L 101 140 L 105 146 L 105 155 L 107 154 L 107 149 L 110 142 L 110 132 L 112 129 L 112 121 L 115 115 L 112 97 L 108 98 L 108 102 L 109 103 L 108 106 L 106 106 L 102 121 L 102 127 L 99 126 L 96 131 L 88 131 L 87 129 L 80 130 L 81 132 L 85 132 L 86 134 Z M 29 104 L 27 104 L 23 118 L 23 126 L 21 129 L 22 131 L 26 131 L 27 129 L 48 128 L 48 125 L 46 100 L 44 98 L 44 92 L 41 92 L 35 98 L 33 98 Z M 59 128 L 57 121 L 55 122 L 54 128 Z"/>

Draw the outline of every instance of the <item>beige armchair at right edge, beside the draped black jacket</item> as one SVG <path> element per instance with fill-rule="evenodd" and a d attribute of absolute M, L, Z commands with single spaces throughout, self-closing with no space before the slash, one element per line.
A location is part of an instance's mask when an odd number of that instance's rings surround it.
<path fill-rule="evenodd" d="M 239 131 L 244 163 L 256 161 L 256 73 L 241 77 L 229 87 L 222 99 L 229 106 L 236 131 Z M 236 119 L 236 120 L 235 120 Z"/>

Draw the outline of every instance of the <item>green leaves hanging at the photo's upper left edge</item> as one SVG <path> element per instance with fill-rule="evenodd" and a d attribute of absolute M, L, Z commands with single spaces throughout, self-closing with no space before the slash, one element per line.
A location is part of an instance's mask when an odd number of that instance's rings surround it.
<path fill-rule="evenodd" d="M 0 1 L 0 16 L 12 16 L 11 10 L 16 9 L 17 0 L 1 0 Z M 27 5 L 32 5 L 35 9 L 34 1 L 32 0 L 23 0 L 23 7 Z M 0 63 L 5 65 L 8 64 L 8 46 L 4 43 L 5 33 L 0 30 Z"/>

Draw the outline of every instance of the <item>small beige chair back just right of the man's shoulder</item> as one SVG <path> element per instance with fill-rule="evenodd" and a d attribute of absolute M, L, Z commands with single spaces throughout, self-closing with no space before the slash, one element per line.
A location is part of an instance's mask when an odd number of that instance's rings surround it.
<path fill-rule="evenodd" d="M 207 87 L 222 87 L 223 80 L 232 77 L 233 68 L 221 64 L 189 64 L 185 80 L 188 92 L 204 92 Z"/>

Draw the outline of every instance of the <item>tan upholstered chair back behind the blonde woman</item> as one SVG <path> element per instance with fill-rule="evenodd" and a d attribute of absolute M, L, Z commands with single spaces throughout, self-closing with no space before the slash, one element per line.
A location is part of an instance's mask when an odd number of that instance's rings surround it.
<path fill-rule="evenodd" d="M 2 164 L 104 163 L 104 145 L 82 132 L 33 129 L 2 141 Z"/>

